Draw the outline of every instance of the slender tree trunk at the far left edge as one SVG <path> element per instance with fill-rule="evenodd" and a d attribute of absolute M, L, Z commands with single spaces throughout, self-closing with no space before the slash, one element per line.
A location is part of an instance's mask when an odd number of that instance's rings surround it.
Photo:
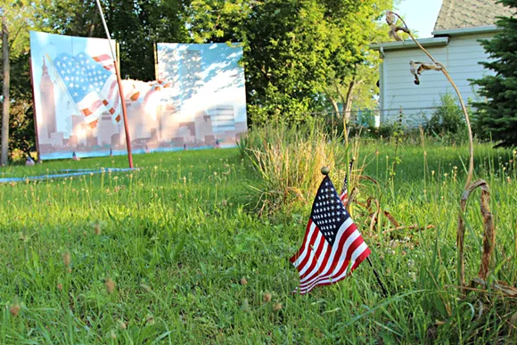
<path fill-rule="evenodd" d="M 2 155 L 0 165 L 8 162 L 9 155 L 9 41 L 7 37 L 7 25 L 5 15 L 2 16 L 2 57 L 4 58 L 4 102 L 2 108 Z"/>

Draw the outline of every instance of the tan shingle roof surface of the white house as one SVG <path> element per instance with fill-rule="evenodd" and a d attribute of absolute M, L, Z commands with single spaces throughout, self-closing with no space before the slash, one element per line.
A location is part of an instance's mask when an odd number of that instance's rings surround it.
<path fill-rule="evenodd" d="M 513 14 L 510 7 L 496 4 L 496 0 L 443 0 L 434 30 L 494 25 L 496 17 Z"/>

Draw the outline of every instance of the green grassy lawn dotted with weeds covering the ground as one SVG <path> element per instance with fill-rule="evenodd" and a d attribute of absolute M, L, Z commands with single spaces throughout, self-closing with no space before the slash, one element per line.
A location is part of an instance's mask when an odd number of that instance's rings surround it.
<path fill-rule="evenodd" d="M 360 145 L 357 160 L 382 188 L 361 180 L 358 198 L 376 197 L 401 224 L 434 228 L 371 233 L 354 207 L 387 297 L 366 263 L 341 283 L 292 295 L 298 276 L 288 258 L 300 246 L 310 205 L 259 218 L 248 204 L 250 185 L 261 179 L 236 149 L 135 155 L 138 171 L 0 185 L 0 343 L 516 341 L 515 300 L 496 292 L 462 297 L 455 288 L 467 149 L 430 145 L 427 156 L 419 146 L 397 150 L 393 172 L 392 144 Z M 476 175 L 490 185 L 496 223 L 491 279 L 514 286 L 515 156 L 486 145 L 476 152 Z M 126 165 L 115 157 L 2 172 Z M 466 219 L 470 280 L 480 262 L 479 192 Z M 107 278 L 116 284 L 112 293 Z"/>

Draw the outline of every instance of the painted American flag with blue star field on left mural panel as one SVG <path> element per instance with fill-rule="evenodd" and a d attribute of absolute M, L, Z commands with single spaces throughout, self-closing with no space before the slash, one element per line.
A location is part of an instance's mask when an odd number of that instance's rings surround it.
<path fill-rule="evenodd" d="M 120 97 L 115 65 L 107 54 L 90 56 L 61 53 L 53 61 L 70 97 L 90 127 L 97 126 L 103 112 L 120 121 Z"/>

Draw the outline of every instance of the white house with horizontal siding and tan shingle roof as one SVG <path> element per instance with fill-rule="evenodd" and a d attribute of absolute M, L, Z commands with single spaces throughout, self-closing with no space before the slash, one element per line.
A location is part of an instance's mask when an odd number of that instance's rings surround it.
<path fill-rule="evenodd" d="M 443 0 L 430 38 L 418 42 L 444 64 L 458 86 L 464 101 L 479 99 L 469 79 L 490 73 L 479 62 L 488 61 L 478 40 L 490 39 L 497 32 L 497 16 L 512 16 L 508 7 L 494 0 Z M 411 28 L 409 28 L 411 29 Z M 439 104 L 440 94 L 455 93 L 445 76 L 434 70 L 422 73 L 420 85 L 414 84 L 409 62 L 431 62 L 411 40 L 371 45 L 382 57 L 380 68 L 381 122 L 390 122 L 403 109 L 409 123 L 423 121 Z"/>

